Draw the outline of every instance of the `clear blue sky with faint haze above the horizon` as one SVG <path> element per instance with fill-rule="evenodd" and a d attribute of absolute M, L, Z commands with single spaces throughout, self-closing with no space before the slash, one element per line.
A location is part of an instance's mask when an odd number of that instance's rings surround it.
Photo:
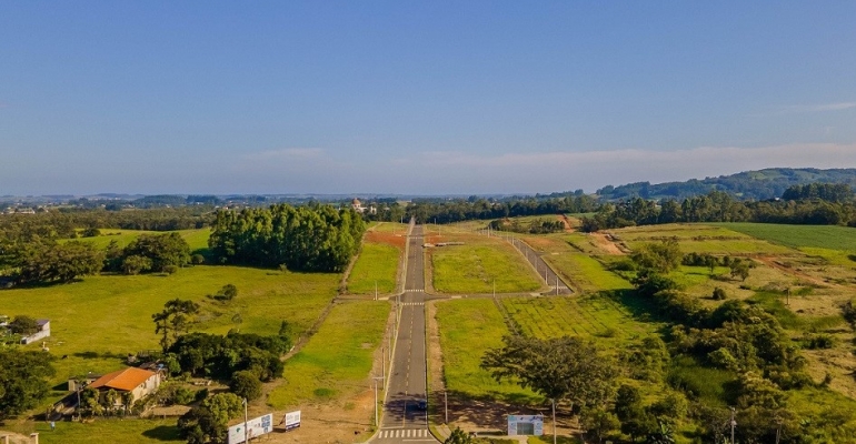
<path fill-rule="evenodd" d="M 0 2 L 0 195 L 856 167 L 856 2 Z"/>

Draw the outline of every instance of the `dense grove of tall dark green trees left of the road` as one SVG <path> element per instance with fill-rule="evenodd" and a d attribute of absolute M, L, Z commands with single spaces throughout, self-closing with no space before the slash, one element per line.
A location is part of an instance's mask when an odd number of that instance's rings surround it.
<path fill-rule="evenodd" d="M 338 272 L 357 253 L 366 223 L 331 205 L 218 211 L 208 241 L 220 263 Z"/>

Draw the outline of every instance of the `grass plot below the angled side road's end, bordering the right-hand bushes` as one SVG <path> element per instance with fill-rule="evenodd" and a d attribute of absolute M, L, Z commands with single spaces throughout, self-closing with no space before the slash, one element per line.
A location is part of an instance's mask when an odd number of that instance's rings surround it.
<path fill-rule="evenodd" d="M 628 309 L 608 296 L 505 297 L 502 305 L 528 336 L 565 335 L 621 342 L 645 336 L 656 325 L 637 322 Z"/>

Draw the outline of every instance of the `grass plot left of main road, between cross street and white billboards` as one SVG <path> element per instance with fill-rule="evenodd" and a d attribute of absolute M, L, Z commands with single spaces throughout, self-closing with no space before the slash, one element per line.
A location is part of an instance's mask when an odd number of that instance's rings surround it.
<path fill-rule="evenodd" d="M 389 310 L 388 303 L 375 301 L 336 305 L 318 333 L 286 362 L 283 381 L 268 404 L 286 408 L 366 389 Z"/>

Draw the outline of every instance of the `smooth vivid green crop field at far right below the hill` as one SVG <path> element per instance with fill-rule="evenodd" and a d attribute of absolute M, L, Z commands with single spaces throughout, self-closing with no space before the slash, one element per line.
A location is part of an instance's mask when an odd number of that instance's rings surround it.
<path fill-rule="evenodd" d="M 721 223 L 716 225 L 793 249 L 808 246 L 856 251 L 856 229 L 848 226 L 772 223 Z"/>

